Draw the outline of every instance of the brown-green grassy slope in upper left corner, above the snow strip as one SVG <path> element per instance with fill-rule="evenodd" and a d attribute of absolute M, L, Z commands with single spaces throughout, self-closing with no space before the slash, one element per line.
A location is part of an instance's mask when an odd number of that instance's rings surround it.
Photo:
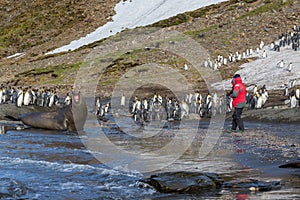
<path fill-rule="evenodd" d="M 47 51 L 84 36 L 110 20 L 117 2 L 118 0 L 2 0 L 0 58 L 42 44 L 46 45 L 41 47 L 41 51 Z"/>

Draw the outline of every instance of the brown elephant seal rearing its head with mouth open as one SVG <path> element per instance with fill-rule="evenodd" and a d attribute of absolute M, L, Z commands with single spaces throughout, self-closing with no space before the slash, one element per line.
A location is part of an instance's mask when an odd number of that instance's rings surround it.
<path fill-rule="evenodd" d="M 80 95 L 72 95 L 72 103 L 57 111 L 25 113 L 19 119 L 33 128 L 81 131 L 87 118 L 87 106 Z"/>

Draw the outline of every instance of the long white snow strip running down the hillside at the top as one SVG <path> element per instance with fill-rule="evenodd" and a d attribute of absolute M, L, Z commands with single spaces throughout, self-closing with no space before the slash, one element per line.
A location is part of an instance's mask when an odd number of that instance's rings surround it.
<path fill-rule="evenodd" d="M 139 26 L 153 24 L 163 19 L 170 18 L 179 13 L 196 10 L 212 4 L 227 0 L 132 0 L 121 1 L 115 7 L 116 15 L 112 22 L 99 27 L 94 32 L 72 41 L 46 54 L 54 54 L 65 51 L 72 51 L 84 45 L 107 38 L 126 28 L 132 29 Z"/>

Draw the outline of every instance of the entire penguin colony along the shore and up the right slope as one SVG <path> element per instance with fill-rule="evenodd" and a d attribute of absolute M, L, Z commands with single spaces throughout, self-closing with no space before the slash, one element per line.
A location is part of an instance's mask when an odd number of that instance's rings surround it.
<path fill-rule="evenodd" d="M 270 50 L 280 51 L 282 47 L 291 47 L 294 51 L 299 50 L 300 42 L 300 26 L 294 26 L 293 31 L 278 36 L 277 42 L 272 42 L 269 46 Z M 256 51 L 253 49 L 247 49 L 243 53 L 236 52 L 230 53 L 227 57 L 219 55 L 215 61 L 208 58 L 204 62 L 205 67 L 210 67 L 214 70 L 219 69 L 222 65 L 228 65 L 231 62 L 238 62 L 239 60 L 249 57 L 258 56 L 260 58 L 266 58 L 267 52 L 263 50 L 265 44 L 260 42 Z M 286 69 L 292 72 L 294 64 L 280 60 L 277 64 L 279 69 Z M 185 64 L 184 70 L 187 71 L 189 67 Z M 291 80 L 289 83 L 284 84 L 283 95 L 288 97 L 290 107 L 300 107 L 300 91 L 295 87 L 296 80 Z M 289 91 L 291 90 L 291 91 Z M 247 104 L 248 109 L 261 109 L 264 107 L 268 100 L 268 91 L 264 85 L 258 89 L 258 86 L 254 86 L 252 92 L 247 92 Z M 123 95 L 120 100 L 120 106 L 126 106 L 125 96 Z M 135 97 L 130 100 L 129 110 L 132 117 L 136 121 L 144 120 L 181 120 L 187 118 L 189 114 L 198 114 L 200 117 L 205 115 L 215 115 L 217 113 L 226 113 L 232 111 L 232 99 L 224 94 L 218 96 L 215 94 L 207 93 L 201 95 L 199 92 L 195 94 L 186 94 L 179 101 L 174 97 L 166 97 L 158 94 L 154 94 L 152 97 L 139 98 Z M 66 94 L 64 97 L 59 97 L 55 89 L 41 88 L 34 89 L 31 87 L 10 87 L 7 84 L 0 86 L 0 104 L 13 103 L 17 107 L 38 105 L 43 107 L 52 107 L 53 105 L 63 104 L 69 105 L 71 103 L 71 97 Z M 104 116 L 109 112 L 110 103 L 103 103 L 101 98 L 96 98 L 95 101 L 96 115 Z"/>

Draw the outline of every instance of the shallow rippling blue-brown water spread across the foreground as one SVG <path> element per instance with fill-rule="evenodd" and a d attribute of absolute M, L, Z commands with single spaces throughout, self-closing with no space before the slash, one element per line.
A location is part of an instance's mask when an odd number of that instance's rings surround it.
<path fill-rule="evenodd" d="M 223 133 L 205 158 L 200 158 L 198 153 L 208 121 L 200 121 L 197 125 L 174 122 L 156 125 L 144 126 L 143 129 L 156 131 L 156 135 L 141 139 L 134 137 L 136 127 L 126 127 L 125 133 L 124 127 L 117 127 L 110 120 L 102 122 L 101 126 L 93 119 L 88 120 L 84 135 L 36 129 L 7 131 L 0 135 L 0 178 L 22 182 L 28 188 L 27 194 L 22 196 L 25 199 L 192 199 L 195 196 L 160 194 L 139 182 L 153 173 L 186 170 L 216 172 L 228 180 L 280 180 L 280 190 L 249 191 L 246 195 L 251 199 L 300 198 L 300 170 L 278 168 L 299 155 L 299 125 L 246 123 L 245 136 Z M 128 168 L 124 167 L 128 160 L 140 159 L 138 154 L 148 158 L 155 155 L 151 154 L 170 144 L 178 130 L 184 130 L 181 139 L 189 139 L 194 128 L 197 135 L 192 145 L 171 164 L 165 162 L 169 159 L 166 153 L 166 160 L 161 157 L 160 163 L 153 157 L 153 166 L 143 166 L 142 162 L 134 160 L 127 163 Z M 128 134 L 130 129 L 132 134 Z M 105 138 L 99 137 L 99 130 Z M 123 154 L 118 148 L 107 151 L 103 141 L 138 154 Z M 89 144 L 88 148 L 84 144 Z M 120 162 L 118 166 L 119 157 L 125 165 Z M 148 172 L 132 170 L 135 166 L 130 163 L 139 163 L 136 169 Z M 239 198 L 238 195 L 239 191 L 220 190 L 196 198 L 232 199 Z"/>

